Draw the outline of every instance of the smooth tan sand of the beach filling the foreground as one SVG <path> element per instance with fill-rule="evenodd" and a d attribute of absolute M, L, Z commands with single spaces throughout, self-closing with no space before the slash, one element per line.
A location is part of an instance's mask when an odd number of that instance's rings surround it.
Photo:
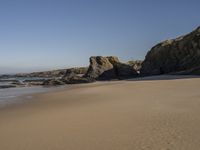
<path fill-rule="evenodd" d="M 197 150 L 200 78 L 163 79 L 78 85 L 0 109 L 0 150 Z"/>

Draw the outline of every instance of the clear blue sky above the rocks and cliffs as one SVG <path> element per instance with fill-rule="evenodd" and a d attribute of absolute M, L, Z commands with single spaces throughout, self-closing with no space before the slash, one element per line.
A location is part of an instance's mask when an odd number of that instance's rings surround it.
<path fill-rule="evenodd" d="M 200 26 L 199 0 L 0 0 L 0 74 L 144 59 Z"/>

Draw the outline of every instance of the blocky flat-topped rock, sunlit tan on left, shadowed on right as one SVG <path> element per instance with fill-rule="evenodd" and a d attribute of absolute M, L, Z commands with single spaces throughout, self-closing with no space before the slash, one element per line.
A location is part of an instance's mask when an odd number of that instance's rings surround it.
<path fill-rule="evenodd" d="M 85 75 L 87 78 L 96 80 L 111 80 L 131 78 L 137 75 L 134 68 L 121 63 L 117 57 L 90 57 L 90 66 Z"/>

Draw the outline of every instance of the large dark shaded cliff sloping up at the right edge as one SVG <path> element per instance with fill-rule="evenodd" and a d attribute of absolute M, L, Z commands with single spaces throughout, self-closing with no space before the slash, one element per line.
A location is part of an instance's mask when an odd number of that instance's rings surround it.
<path fill-rule="evenodd" d="M 185 36 L 154 46 L 142 63 L 141 74 L 200 74 L 199 69 L 200 27 Z"/>

